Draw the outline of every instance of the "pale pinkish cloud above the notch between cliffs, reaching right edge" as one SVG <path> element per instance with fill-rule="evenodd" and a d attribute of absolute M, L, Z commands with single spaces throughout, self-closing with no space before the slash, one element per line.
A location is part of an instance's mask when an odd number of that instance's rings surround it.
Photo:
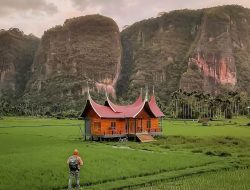
<path fill-rule="evenodd" d="M 249 0 L 71 0 L 71 2 L 83 15 L 99 13 L 109 16 L 120 28 L 142 19 L 156 17 L 163 11 L 201 9 L 225 4 L 250 7 Z"/>

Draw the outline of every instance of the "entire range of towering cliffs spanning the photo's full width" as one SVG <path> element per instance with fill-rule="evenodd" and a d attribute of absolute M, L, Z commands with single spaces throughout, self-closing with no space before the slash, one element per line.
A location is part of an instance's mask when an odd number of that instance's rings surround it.
<path fill-rule="evenodd" d="M 240 6 L 172 11 L 121 33 L 111 18 L 82 16 L 38 43 L 18 29 L 0 32 L 0 95 L 80 109 L 87 82 L 97 99 L 107 90 L 132 100 L 146 85 L 163 103 L 179 88 L 250 94 L 250 10 Z"/>

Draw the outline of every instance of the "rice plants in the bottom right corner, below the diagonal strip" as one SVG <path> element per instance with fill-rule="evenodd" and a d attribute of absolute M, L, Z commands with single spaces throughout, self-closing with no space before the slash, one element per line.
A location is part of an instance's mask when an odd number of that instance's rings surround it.
<path fill-rule="evenodd" d="M 245 168 L 178 178 L 142 187 L 140 190 L 248 190 L 250 187 L 249 178 L 250 170 Z"/>

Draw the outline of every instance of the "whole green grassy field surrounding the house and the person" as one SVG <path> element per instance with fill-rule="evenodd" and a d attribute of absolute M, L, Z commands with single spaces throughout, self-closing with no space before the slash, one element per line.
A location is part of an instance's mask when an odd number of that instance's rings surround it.
<path fill-rule="evenodd" d="M 84 159 L 84 189 L 246 189 L 250 120 L 164 121 L 152 143 L 85 142 L 79 120 L 0 120 L 0 189 L 66 189 L 67 158 Z M 232 183 L 234 181 L 234 183 Z"/>

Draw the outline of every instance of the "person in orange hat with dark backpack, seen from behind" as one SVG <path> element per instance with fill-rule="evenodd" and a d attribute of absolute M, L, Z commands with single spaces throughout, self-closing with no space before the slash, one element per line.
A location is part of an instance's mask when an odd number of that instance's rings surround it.
<path fill-rule="evenodd" d="M 68 189 L 72 188 L 72 180 L 75 178 L 77 189 L 80 188 L 80 166 L 83 165 L 83 161 L 79 156 L 79 152 L 77 149 L 74 150 L 73 155 L 70 156 L 67 160 L 67 164 L 69 165 L 69 183 Z"/>

